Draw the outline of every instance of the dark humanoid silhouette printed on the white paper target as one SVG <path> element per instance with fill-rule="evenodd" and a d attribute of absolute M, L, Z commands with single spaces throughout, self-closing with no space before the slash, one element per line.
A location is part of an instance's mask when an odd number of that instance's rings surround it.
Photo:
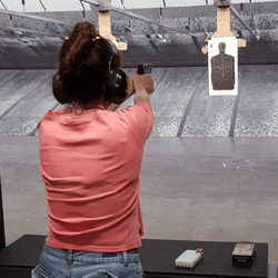
<path fill-rule="evenodd" d="M 235 89 L 235 58 L 226 54 L 226 43 L 219 43 L 219 54 L 211 58 L 211 83 L 214 90 Z"/>

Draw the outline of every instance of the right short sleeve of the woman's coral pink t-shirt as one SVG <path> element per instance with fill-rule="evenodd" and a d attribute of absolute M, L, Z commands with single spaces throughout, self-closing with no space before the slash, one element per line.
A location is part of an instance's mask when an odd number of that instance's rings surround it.
<path fill-rule="evenodd" d="M 140 146 L 143 147 L 155 122 L 155 115 L 151 107 L 145 101 L 140 101 L 117 112 L 120 113 L 120 117 L 125 117 Z"/>

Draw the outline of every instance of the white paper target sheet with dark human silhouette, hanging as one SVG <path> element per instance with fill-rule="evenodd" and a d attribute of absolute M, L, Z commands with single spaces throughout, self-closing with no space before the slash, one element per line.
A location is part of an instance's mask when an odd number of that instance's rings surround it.
<path fill-rule="evenodd" d="M 209 95 L 237 96 L 237 39 L 216 38 L 209 46 Z"/>

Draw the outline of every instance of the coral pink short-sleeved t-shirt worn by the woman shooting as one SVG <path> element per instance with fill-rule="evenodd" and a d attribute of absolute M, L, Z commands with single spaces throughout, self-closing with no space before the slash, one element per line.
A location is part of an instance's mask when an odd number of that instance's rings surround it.
<path fill-rule="evenodd" d="M 151 108 L 138 102 L 118 111 L 60 116 L 66 111 L 48 110 L 38 123 L 46 244 L 95 252 L 140 247 L 139 175 L 155 121 Z"/>

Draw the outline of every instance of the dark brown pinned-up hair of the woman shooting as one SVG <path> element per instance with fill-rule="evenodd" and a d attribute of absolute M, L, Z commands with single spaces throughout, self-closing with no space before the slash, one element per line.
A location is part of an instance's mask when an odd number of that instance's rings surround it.
<path fill-rule="evenodd" d="M 112 59 L 111 69 L 122 68 L 119 50 L 118 57 Z M 68 103 L 67 108 L 72 108 L 72 101 L 82 107 L 98 103 L 108 81 L 110 59 L 106 39 L 97 33 L 95 26 L 88 21 L 76 23 L 61 47 L 60 64 L 52 79 L 56 99 L 62 105 Z M 59 97 L 54 91 L 59 91 Z"/>

